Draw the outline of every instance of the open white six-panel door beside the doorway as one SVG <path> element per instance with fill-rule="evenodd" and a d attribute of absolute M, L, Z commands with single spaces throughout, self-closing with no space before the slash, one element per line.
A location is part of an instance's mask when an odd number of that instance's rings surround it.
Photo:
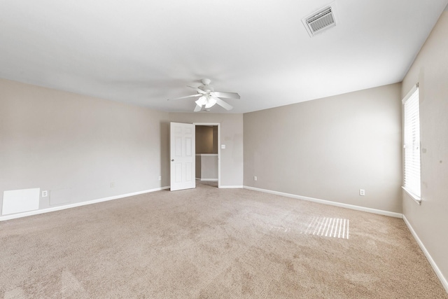
<path fill-rule="evenodd" d="M 170 160 L 172 191 L 196 188 L 195 125 L 170 123 Z"/>

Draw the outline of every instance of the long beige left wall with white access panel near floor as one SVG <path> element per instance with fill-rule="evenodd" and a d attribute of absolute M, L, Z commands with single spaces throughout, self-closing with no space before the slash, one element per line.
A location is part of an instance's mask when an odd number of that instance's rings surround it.
<path fill-rule="evenodd" d="M 45 209 L 52 195 L 73 204 L 169 186 L 168 127 L 165 112 L 0 79 L 0 198 L 41 188 Z"/>

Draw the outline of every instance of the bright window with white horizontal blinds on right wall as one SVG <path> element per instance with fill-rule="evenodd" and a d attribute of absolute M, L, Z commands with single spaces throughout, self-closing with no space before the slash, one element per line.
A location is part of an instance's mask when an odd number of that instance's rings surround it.
<path fill-rule="evenodd" d="M 405 179 L 403 189 L 417 202 L 421 201 L 420 186 L 420 116 L 419 85 L 402 100 L 404 105 Z"/>

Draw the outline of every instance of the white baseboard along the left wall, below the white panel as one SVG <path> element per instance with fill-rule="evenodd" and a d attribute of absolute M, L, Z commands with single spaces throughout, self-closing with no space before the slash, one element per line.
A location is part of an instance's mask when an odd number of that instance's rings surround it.
<path fill-rule="evenodd" d="M 151 189 L 151 190 L 144 190 L 144 191 L 139 191 L 139 192 L 134 192 L 134 193 L 127 193 L 127 194 L 121 194 L 121 195 L 116 195 L 116 196 L 111 196 L 111 197 L 99 198 L 98 200 L 89 200 L 87 202 L 76 202 L 75 204 L 66 204 L 66 205 L 59 206 L 59 207 L 50 207 L 48 209 L 38 209 L 35 211 L 27 211 L 24 213 L 0 216 L 0 221 L 6 221 L 6 220 L 10 220 L 10 219 L 15 219 L 15 218 L 22 218 L 22 217 L 26 217 L 26 216 L 44 214 L 44 213 L 49 213 L 50 211 L 61 211 L 63 209 L 71 209 L 74 207 L 85 206 L 87 204 L 96 204 L 98 202 L 107 202 L 109 200 L 118 200 L 123 197 L 140 195 L 140 194 L 144 194 L 144 193 L 151 193 L 151 192 L 155 192 L 155 191 L 165 190 L 168 188 L 169 188 L 169 186 L 166 186 L 166 187 L 155 188 L 155 189 Z"/>

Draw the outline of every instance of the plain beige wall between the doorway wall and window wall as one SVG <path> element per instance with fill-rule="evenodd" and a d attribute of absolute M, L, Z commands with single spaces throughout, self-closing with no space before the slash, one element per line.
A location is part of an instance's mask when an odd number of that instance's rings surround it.
<path fill-rule="evenodd" d="M 246 113 L 244 185 L 400 213 L 400 109 L 397 83 Z"/>

